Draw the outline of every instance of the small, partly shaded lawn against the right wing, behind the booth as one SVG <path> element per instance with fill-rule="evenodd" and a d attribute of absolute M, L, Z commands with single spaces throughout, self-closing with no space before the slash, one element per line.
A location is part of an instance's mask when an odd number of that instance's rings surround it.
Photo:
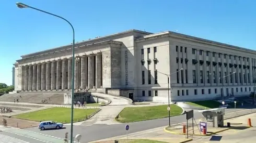
<path fill-rule="evenodd" d="M 217 102 L 214 100 L 193 101 L 193 102 L 186 102 L 186 103 L 188 105 L 192 105 L 202 109 L 218 108 L 220 105 L 222 105 L 220 102 Z"/>

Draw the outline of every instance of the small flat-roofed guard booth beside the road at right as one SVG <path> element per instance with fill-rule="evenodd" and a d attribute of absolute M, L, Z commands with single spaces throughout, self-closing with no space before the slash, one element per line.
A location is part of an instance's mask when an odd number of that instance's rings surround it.
<path fill-rule="evenodd" d="M 204 116 L 201 121 L 206 122 L 208 127 L 224 127 L 223 113 L 225 109 L 226 107 L 199 111 Z"/>

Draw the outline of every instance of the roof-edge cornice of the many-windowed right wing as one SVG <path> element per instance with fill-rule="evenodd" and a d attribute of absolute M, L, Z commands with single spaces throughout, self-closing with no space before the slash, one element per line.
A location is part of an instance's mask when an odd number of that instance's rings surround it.
<path fill-rule="evenodd" d="M 229 49 L 233 49 L 233 50 L 239 50 L 239 51 L 243 51 L 243 52 L 247 52 L 247 53 L 249 52 L 251 54 L 256 54 L 256 50 L 242 48 L 242 47 L 224 44 L 224 43 L 220 43 L 220 42 L 215 42 L 215 41 L 211 41 L 211 40 L 206 40 L 203 38 L 189 36 L 189 35 L 180 34 L 180 33 L 171 32 L 171 31 L 146 35 L 146 36 L 143 36 L 142 38 L 138 38 L 135 42 L 139 43 L 139 42 L 155 40 L 155 39 L 164 38 L 164 37 L 174 37 L 174 38 L 179 38 L 182 40 L 187 40 L 187 41 L 192 41 L 192 42 L 197 42 L 197 43 L 202 43 L 202 44 L 207 44 L 207 45 L 213 45 L 213 46 L 229 48 Z"/>

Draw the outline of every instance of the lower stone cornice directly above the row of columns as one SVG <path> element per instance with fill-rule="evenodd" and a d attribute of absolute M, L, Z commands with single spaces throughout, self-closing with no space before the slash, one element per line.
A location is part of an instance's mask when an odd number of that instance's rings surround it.
<path fill-rule="evenodd" d="M 119 41 L 109 40 L 109 41 L 103 41 L 103 42 L 92 43 L 92 44 L 87 44 L 87 45 L 80 44 L 79 46 L 75 46 L 75 50 L 78 50 L 80 48 L 90 48 L 90 47 L 97 47 L 97 46 L 121 47 L 122 44 L 123 43 L 119 42 Z M 66 48 L 64 50 L 57 50 L 57 51 L 54 51 L 54 52 L 51 52 L 51 53 L 46 53 L 46 54 L 42 54 L 42 55 L 36 55 L 36 56 L 31 56 L 29 58 L 20 59 L 20 60 L 17 60 L 17 62 L 20 62 L 20 61 L 26 60 L 26 59 L 30 59 L 30 58 L 35 58 L 35 57 L 42 57 L 42 56 L 45 56 L 45 55 L 57 54 L 57 53 L 60 53 L 60 52 L 68 52 L 68 51 L 71 51 L 71 50 L 72 50 L 72 46 L 70 46 L 70 47 L 68 47 L 68 48 Z"/>

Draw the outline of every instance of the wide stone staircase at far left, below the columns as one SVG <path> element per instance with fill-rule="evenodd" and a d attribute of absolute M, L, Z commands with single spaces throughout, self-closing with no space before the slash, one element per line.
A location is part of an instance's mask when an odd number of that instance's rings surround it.
<path fill-rule="evenodd" d="M 22 92 L 0 96 L 0 101 L 14 102 L 17 99 L 19 102 L 27 103 L 43 103 L 42 100 L 47 100 L 48 104 L 61 105 L 64 103 L 64 92 Z"/>

